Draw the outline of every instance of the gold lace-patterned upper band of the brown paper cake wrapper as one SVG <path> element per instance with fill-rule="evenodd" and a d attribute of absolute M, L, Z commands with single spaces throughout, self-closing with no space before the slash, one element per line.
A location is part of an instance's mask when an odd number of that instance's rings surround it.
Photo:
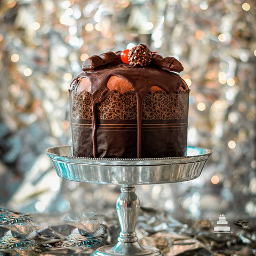
<path fill-rule="evenodd" d="M 142 103 L 142 120 L 166 120 L 188 118 L 188 93 L 166 94 L 158 91 L 149 92 Z M 82 92 L 78 96 L 71 95 L 72 116 L 80 119 L 92 119 L 90 94 Z M 137 119 L 137 99 L 135 92 L 109 91 L 105 100 L 97 104 L 100 119 Z"/>

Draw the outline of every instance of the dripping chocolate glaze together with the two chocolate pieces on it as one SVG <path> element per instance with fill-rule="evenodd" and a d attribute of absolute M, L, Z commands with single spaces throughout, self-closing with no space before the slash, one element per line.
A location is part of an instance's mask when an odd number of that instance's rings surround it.
<path fill-rule="evenodd" d="M 143 46 L 144 47 L 144 46 Z M 147 46 L 146 46 L 147 47 Z M 141 51 L 138 51 L 140 54 Z M 97 155 L 97 103 L 106 98 L 109 92 L 107 83 L 112 76 L 124 79 L 132 87 L 137 98 L 137 157 L 141 157 L 141 112 L 142 102 L 152 86 L 158 86 L 167 94 L 179 93 L 180 90 L 189 91 L 185 81 L 176 73 L 183 70 L 181 63 L 173 58 L 163 58 L 161 55 L 152 53 L 151 61 L 146 67 L 141 65 L 133 66 L 123 63 L 122 52 L 107 52 L 94 55 L 86 59 L 83 63 L 83 73 L 76 76 L 71 82 L 69 92 L 76 90 L 82 78 L 90 81 L 90 86 L 86 89 L 90 93 L 92 102 L 92 141 L 93 156 Z M 140 56 L 133 58 L 139 60 Z M 144 63 L 144 61 L 143 61 Z M 174 71 L 174 72 L 172 72 Z"/>

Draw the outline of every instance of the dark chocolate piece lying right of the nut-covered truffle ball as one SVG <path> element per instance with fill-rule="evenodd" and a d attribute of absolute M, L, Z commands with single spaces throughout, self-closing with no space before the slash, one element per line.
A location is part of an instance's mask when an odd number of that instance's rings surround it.
<path fill-rule="evenodd" d="M 182 64 L 173 57 L 163 58 L 161 55 L 153 53 L 152 55 L 152 65 L 157 68 L 161 68 L 167 71 L 175 71 L 180 73 L 183 71 Z"/>

